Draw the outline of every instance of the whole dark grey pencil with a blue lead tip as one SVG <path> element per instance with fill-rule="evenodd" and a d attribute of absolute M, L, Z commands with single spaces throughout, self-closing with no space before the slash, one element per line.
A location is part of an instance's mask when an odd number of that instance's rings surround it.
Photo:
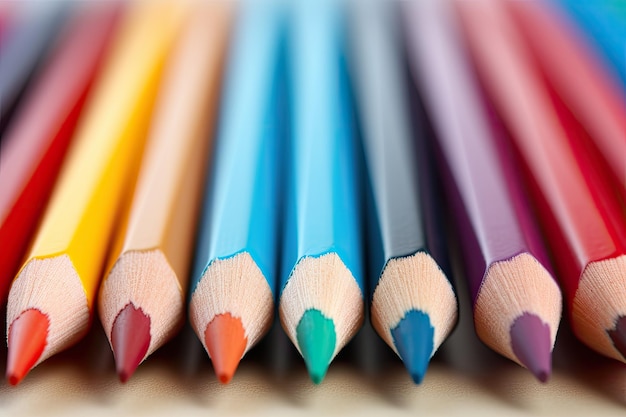
<path fill-rule="evenodd" d="M 448 278 L 443 203 L 427 166 L 427 133 L 418 120 L 423 115 L 409 114 L 392 5 L 358 3 L 351 9 L 351 73 L 374 202 L 369 224 L 377 230 L 370 238 L 371 320 L 420 383 L 454 328 L 458 307 Z"/>

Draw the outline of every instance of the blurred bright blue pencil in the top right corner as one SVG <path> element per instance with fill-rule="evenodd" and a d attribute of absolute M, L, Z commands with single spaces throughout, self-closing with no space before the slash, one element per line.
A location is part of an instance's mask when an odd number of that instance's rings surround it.
<path fill-rule="evenodd" d="M 583 29 L 585 38 L 600 51 L 604 63 L 621 81 L 622 91 L 626 92 L 626 17 L 613 13 L 606 2 L 584 2 L 577 0 L 553 0 L 564 10 L 576 25 Z"/>

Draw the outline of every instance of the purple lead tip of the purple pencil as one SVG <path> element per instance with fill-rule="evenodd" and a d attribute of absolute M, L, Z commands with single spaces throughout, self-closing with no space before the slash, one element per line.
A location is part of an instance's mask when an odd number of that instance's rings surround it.
<path fill-rule="evenodd" d="M 517 359 L 541 382 L 546 382 L 552 368 L 550 326 L 539 316 L 524 313 L 510 330 L 511 347 Z"/>

